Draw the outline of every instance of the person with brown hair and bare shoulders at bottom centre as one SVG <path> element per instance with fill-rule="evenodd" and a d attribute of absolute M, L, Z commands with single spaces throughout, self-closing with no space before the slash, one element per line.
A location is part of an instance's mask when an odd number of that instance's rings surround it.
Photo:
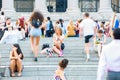
<path fill-rule="evenodd" d="M 63 59 L 62 61 L 59 62 L 59 67 L 55 71 L 55 80 L 66 80 L 64 69 L 67 67 L 68 62 L 69 61 L 67 59 Z"/>

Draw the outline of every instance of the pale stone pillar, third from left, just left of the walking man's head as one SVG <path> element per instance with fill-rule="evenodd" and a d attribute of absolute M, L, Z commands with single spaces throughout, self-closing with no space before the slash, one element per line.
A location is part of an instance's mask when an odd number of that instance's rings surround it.
<path fill-rule="evenodd" d="M 78 7 L 78 0 L 67 0 L 68 1 L 68 8 L 67 13 L 73 18 L 80 16 L 80 9 Z"/>

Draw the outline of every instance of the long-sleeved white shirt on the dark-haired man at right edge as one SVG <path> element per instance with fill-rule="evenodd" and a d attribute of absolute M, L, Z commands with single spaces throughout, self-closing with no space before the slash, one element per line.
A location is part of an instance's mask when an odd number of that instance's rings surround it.
<path fill-rule="evenodd" d="M 120 72 L 120 40 L 113 40 L 103 47 L 98 65 L 97 80 L 104 80 L 106 71 Z"/>

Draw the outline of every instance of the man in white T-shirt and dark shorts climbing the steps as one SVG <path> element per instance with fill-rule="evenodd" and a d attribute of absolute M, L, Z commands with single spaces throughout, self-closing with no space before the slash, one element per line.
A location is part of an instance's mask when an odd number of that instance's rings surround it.
<path fill-rule="evenodd" d="M 80 28 L 80 36 L 85 37 L 85 52 L 87 54 L 88 61 L 90 59 L 90 43 L 89 40 L 92 38 L 96 33 L 96 24 L 95 22 L 89 18 L 89 13 L 84 14 L 84 20 L 79 25 Z"/>

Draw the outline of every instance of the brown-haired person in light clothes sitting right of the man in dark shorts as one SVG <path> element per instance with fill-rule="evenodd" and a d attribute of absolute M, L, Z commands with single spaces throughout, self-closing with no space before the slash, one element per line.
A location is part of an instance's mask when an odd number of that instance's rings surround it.
<path fill-rule="evenodd" d="M 102 46 L 106 42 L 106 37 L 103 33 L 103 30 L 98 30 L 97 35 L 95 36 L 94 39 L 94 48 L 98 52 L 98 56 L 100 57 L 101 51 L 102 51 Z"/>

